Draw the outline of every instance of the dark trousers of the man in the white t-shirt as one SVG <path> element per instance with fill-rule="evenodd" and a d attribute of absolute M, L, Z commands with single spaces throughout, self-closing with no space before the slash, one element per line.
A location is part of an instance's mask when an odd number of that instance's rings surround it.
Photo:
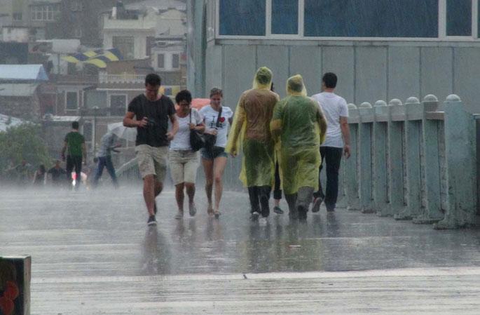
<path fill-rule="evenodd" d="M 336 199 L 338 198 L 338 170 L 340 170 L 340 162 L 342 159 L 343 149 L 341 147 L 320 147 L 320 155 L 322 156 L 322 165 L 318 170 L 318 192 L 313 196 L 324 199 L 327 209 L 334 209 Z M 323 162 L 327 166 L 327 189 L 323 193 L 322 184 L 320 183 L 320 173 L 322 172 Z"/>

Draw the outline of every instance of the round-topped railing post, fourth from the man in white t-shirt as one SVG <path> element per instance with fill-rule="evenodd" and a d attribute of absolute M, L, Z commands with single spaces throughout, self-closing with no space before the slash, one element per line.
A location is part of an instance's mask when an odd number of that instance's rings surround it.
<path fill-rule="evenodd" d="M 389 215 L 398 216 L 405 207 L 404 202 L 404 161 L 403 130 L 405 107 L 401 100 L 393 99 L 389 104 L 390 119 L 388 121 L 388 187 L 390 210 Z"/>

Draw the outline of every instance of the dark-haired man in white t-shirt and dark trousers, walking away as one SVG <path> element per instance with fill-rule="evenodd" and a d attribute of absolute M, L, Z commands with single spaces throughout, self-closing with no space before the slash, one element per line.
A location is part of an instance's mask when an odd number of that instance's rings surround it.
<path fill-rule="evenodd" d="M 322 109 L 327 119 L 327 138 L 320 147 L 322 165 L 318 175 L 318 192 L 313 194 L 314 201 L 312 212 L 320 210 L 320 204 L 325 202 L 327 211 L 334 211 L 338 197 L 338 170 L 342 153 L 348 159 L 350 157 L 350 128 L 348 128 L 348 106 L 341 96 L 334 93 L 337 83 L 337 76 L 328 72 L 322 77 L 322 93 L 312 96 Z M 327 166 L 327 189 L 323 192 L 320 184 L 320 172 L 323 162 Z"/>

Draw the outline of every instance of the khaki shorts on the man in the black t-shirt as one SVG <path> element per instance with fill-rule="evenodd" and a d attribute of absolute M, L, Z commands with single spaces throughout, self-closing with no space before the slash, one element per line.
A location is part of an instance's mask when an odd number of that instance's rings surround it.
<path fill-rule="evenodd" d="M 137 145 L 135 152 L 142 178 L 146 175 L 155 175 L 159 182 L 163 182 L 167 173 L 168 147 Z"/>

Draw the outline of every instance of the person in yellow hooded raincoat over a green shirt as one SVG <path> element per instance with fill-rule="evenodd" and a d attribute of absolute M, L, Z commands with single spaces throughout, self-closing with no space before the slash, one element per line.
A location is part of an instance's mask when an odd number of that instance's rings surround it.
<path fill-rule="evenodd" d="M 277 102 L 270 130 L 280 142 L 280 174 L 289 206 L 289 217 L 306 220 L 314 189 L 318 189 L 321 159 L 318 147 L 324 141 L 327 121 L 317 102 L 308 98 L 303 79 L 287 81 L 287 97 Z"/>

